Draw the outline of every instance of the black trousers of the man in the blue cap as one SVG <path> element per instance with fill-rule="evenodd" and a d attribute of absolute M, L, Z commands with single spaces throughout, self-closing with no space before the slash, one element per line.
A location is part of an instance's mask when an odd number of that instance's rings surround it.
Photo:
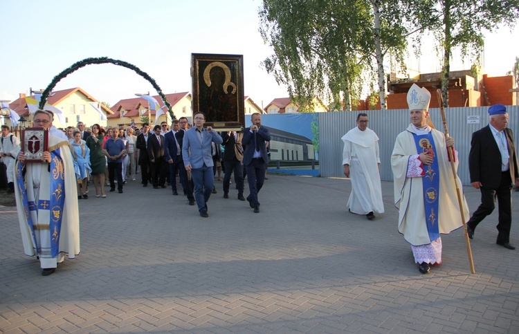
<path fill-rule="evenodd" d="M 503 171 L 501 175 L 501 184 L 497 189 L 488 187 L 480 187 L 481 204 L 467 222 L 467 226 L 475 230 L 486 216 L 491 214 L 495 208 L 495 199 L 499 202 L 499 218 L 498 218 L 498 242 L 510 242 L 510 227 L 512 224 L 512 180 L 509 171 Z"/>

